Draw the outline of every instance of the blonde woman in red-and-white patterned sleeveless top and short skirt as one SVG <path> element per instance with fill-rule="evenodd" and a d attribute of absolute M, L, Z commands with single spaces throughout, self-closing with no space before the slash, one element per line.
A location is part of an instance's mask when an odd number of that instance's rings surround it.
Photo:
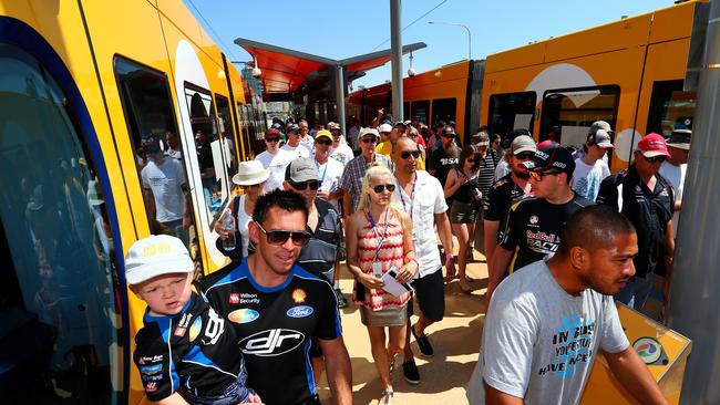
<path fill-rule="evenodd" d="M 405 283 L 418 271 L 412 224 L 408 214 L 395 208 L 394 189 L 394 177 L 385 166 L 370 167 L 362 181 L 358 211 L 347 228 L 348 268 L 356 279 L 352 301 L 360 307 L 362 323 L 368 328 L 383 386 L 382 404 L 392 399 L 390 371 L 395 354 L 404 350 L 410 293 L 388 293 L 379 276 L 397 268 L 395 279 Z"/>

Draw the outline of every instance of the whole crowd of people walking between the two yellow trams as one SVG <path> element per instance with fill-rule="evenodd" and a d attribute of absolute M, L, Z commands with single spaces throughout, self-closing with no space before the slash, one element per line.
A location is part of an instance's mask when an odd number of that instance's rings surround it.
<path fill-rule="evenodd" d="M 443 320 L 445 284 L 479 288 L 466 273 L 477 250 L 487 314 L 472 404 L 577 403 L 598 350 L 638 401 L 662 403 L 613 298 L 637 310 L 667 299 L 690 132 L 642 137 L 630 166 L 610 174 L 603 121 L 577 150 L 485 127 L 461 148 L 452 124 L 380 111 L 368 127 L 351 120 L 346 137 L 336 123 L 274 123 L 265 152 L 233 177 L 243 188 L 225 214 L 233 226 L 215 222 L 232 264 L 197 281 L 197 292 L 186 243 L 137 241 L 126 274 L 148 307 L 134 354 L 148 398 L 317 404 L 327 373 L 333 401 L 351 403 L 339 312 L 349 304 L 346 261 L 390 404 L 398 356 L 405 381 L 421 383 L 410 341 L 433 356 L 426 331 Z M 562 328 L 583 332 L 563 340 Z M 557 354 L 570 345 L 572 360 Z"/>

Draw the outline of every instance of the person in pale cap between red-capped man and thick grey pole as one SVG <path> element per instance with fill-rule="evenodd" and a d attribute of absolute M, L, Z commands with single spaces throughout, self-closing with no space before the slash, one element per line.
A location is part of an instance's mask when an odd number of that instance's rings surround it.
<path fill-rule="evenodd" d="M 690 129 L 675 129 L 668 139 L 668 152 L 670 157 L 660 165 L 660 176 L 670 183 L 675 191 L 675 205 L 672 207 L 672 230 L 678 236 L 678 221 L 680 208 L 682 208 L 682 189 L 685 188 L 685 174 L 688 170 L 688 152 L 690 150 Z"/>

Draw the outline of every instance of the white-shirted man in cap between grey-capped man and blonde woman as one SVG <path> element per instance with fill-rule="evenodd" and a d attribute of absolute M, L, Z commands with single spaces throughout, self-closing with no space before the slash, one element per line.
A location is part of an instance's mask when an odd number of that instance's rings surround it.
<path fill-rule="evenodd" d="M 342 190 L 338 187 L 344 165 L 330 157 L 332 135 L 329 131 L 322 129 L 315 134 L 315 164 L 318 166 L 320 188 L 318 197 L 330 202 L 340 212 L 338 199 L 342 197 Z"/>

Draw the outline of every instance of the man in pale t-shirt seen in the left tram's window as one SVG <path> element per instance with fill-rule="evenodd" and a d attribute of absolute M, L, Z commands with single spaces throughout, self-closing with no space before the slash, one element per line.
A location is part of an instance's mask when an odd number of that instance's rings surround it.
<path fill-rule="evenodd" d="M 174 236 L 188 246 L 189 209 L 187 209 L 187 178 L 179 160 L 165 156 L 160 148 L 160 138 L 150 135 L 143 139 L 147 165 L 140 176 L 143 188 L 153 195 L 155 219 L 169 228 Z"/>

